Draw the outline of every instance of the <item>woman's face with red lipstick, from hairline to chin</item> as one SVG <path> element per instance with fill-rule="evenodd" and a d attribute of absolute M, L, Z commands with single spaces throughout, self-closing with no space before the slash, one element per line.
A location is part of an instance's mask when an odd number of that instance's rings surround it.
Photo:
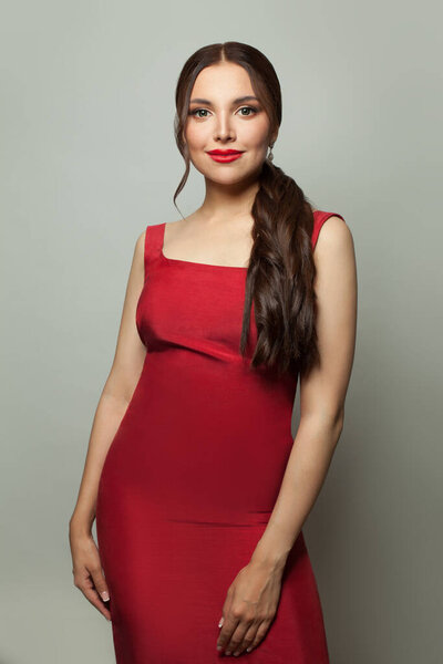
<path fill-rule="evenodd" d="M 223 62 L 200 71 L 190 93 L 185 127 L 189 158 L 197 170 L 226 185 L 258 174 L 275 138 L 269 127 L 269 117 L 243 66 Z M 215 160 L 212 151 L 241 154 Z"/>

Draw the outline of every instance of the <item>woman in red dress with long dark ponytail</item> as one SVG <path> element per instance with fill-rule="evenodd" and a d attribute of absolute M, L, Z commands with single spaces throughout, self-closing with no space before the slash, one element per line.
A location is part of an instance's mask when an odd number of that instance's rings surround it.
<path fill-rule="evenodd" d="M 119 664 L 323 664 L 301 527 L 343 426 L 352 236 L 272 165 L 281 96 L 259 51 L 199 49 L 176 106 L 174 203 L 189 160 L 206 195 L 137 239 L 70 521 L 74 584 L 112 619 Z"/>

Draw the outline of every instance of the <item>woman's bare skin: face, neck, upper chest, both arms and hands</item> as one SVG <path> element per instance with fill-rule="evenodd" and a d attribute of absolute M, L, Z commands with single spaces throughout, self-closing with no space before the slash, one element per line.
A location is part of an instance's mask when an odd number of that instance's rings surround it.
<path fill-rule="evenodd" d="M 185 141 L 189 157 L 205 178 L 203 205 L 185 220 L 167 224 L 164 253 L 168 258 L 209 264 L 246 266 L 250 253 L 250 207 L 257 174 L 270 143 L 269 118 L 257 102 L 234 104 L 254 95 L 247 72 L 223 62 L 203 70 L 194 84 Z M 241 111 L 254 106 L 257 114 Z M 207 151 L 244 149 L 231 163 L 214 162 Z M 78 504 L 70 521 L 74 584 L 103 615 L 100 599 L 107 591 L 99 551 L 91 535 L 102 466 L 120 421 L 137 384 L 146 349 L 135 328 L 143 288 L 144 232 L 138 237 L 128 278 L 114 362 L 91 432 Z M 320 367 L 300 376 L 300 423 L 272 515 L 249 563 L 237 573 L 220 608 L 217 650 L 238 655 L 257 647 L 276 615 L 287 557 L 324 483 L 344 422 L 344 400 L 351 375 L 357 329 L 357 268 L 347 224 L 330 217 L 313 253 L 317 267 L 317 334 Z"/>

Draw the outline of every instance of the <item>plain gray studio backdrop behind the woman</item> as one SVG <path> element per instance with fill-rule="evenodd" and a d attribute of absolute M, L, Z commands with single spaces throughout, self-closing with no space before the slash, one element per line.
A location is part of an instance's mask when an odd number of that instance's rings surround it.
<path fill-rule="evenodd" d="M 0 664 L 114 661 L 111 624 L 72 583 L 68 522 L 135 239 L 179 218 L 176 80 L 196 49 L 227 40 L 272 62 L 284 95 L 275 160 L 354 238 L 346 425 L 303 528 L 331 664 L 440 663 L 436 2 L 1 9 Z M 203 194 L 193 169 L 185 216 Z"/>

